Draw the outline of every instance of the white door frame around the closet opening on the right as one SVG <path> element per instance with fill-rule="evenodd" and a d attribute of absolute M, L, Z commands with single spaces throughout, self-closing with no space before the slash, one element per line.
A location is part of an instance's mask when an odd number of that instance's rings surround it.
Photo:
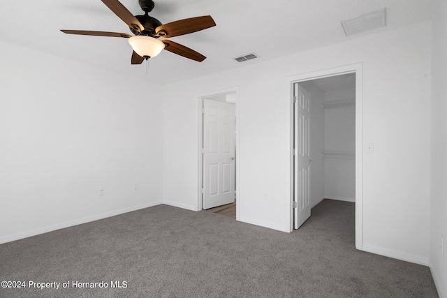
<path fill-rule="evenodd" d="M 290 168 L 290 229 L 293 231 L 293 84 L 310 80 L 318 80 L 323 77 L 336 75 L 356 74 L 356 248 L 363 249 L 363 64 L 349 64 L 335 68 L 316 70 L 309 73 L 288 76 L 286 79 L 286 104 L 290 107 L 288 114 L 289 138 L 289 165 Z"/>

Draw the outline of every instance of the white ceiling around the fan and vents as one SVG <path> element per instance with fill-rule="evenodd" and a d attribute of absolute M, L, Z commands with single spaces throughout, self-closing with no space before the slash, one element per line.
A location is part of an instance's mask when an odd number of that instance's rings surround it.
<path fill-rule="evenodd" d="M 134 15 L 138 0 L 121 0 Z M 211 15 L 216 27 L 171 38 L 207 59 L 199 63 L 163 51 L 131 65 L 125 38 L 75 36 L 59 29 L 131 33 L 100 0 L 39 0 L 0 3 L 0 40 L 98 66 L 131 77 L 169 84 L 231 68 L 256 64 L 316 47 L 430 20 L 434 0 L 154 0 L 152 17 L 163 24 Z M 340 21 L 386 7 L 388 26 L 346 37 Z M 0 50 L 1 51 L 1 50 Z M 234 57 L 255 52 L 260 58 L 238 63 Z M 22 57 L 32 59 L 32 57 Z"/>

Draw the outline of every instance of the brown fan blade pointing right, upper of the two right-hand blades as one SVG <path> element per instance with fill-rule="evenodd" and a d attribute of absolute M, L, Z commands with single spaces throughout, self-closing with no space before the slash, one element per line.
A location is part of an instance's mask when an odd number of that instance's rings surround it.
<path fill-rule="evenodd" d="M 205 15 L 203 17 L 191 17 L 161 25 L 156 27 L 155 32 L 158 36 L 173 37 L 193 33 L 213 26 L 216 26 L 216 23 L 212 17 Z"/>

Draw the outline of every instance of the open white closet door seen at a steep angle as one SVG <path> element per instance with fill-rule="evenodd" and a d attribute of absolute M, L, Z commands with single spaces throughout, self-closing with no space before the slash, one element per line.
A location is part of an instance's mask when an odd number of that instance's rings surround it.
<path fill-rule="evenodd" d="M 310 94 L 293 84 L 293 204 L 294 228 L 310 217 Z"/>

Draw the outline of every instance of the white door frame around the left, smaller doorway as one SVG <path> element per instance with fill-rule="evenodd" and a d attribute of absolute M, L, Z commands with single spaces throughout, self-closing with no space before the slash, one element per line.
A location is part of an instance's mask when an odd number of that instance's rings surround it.
<path fill-rule="evenodd" d="M 235 154 L 236 154 L 236 188 L 235 193 L 237 196 L 236 200 L 236 220 L 239 221 L 239 204 L 240 204 L 240 154 L 239 154 L 239 87 L 229 87 L 226 89 L 219 89 L 215 91 L 208 91 L 201 94 L 196 94 L 196 98 L 198 100 L 198 188 L 197 188 L 197 202 L 196 202 L 196 210 L 203 210 L 203 201 L 202 201 L 202 188 L 203 188 L 203 156 L 202 156 L 202 148 L 203 148 L 203 98 L 211 98 L 214 96 L 222 96 L 226 94 L 235 94 L 236 103 L 235 103 Z"/>

